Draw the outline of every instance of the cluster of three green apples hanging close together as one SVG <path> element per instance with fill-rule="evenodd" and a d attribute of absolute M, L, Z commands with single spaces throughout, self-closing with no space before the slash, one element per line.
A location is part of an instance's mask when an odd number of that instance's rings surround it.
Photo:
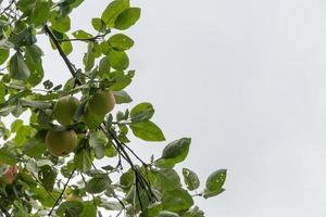
<path fill-rule="evenodd" d="M 78 145 L 77 133 L 72 126 L 74 115 L 80 105 L 80 101 L 66 95 L 58 100 L 53 107 L 53 118 L 61 125 L 55 126 L 47 132 L 46 145 L 50 154 L 64 156 L 73 152 Z M 82 122 L 89 123 L 93 119 L 103 119 L 115 106 L 114 94 L 109 90 L 100 90 L 92 94 L 85 106 Z"/>

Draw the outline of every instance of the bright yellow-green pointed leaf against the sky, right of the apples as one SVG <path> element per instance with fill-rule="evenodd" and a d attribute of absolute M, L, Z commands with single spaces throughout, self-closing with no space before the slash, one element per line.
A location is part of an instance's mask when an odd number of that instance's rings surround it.
<path fill-rule="evenodd" d="M 134 135 L 145 141 L 164 141 L 162 130 L 152 122 L 139 122 L 129 125 Z"/>

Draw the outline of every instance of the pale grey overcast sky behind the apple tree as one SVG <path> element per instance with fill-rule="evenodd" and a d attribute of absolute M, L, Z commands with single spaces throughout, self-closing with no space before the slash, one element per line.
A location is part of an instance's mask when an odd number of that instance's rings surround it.
<path fill-rule="evenodd" d="M 108 2 L 86 0 L 73 29 L 91 29 Z M 142 8 L 128 31 L 134 104 L 153 103 L 168 141 L 192 138 L 181 166 L 201 188 L 228 169 L 226 191 L 198 200 L 206 216 L 326 217 L 326 0 L 131 3 Z M 45 52 L 47 73 L 66 79 L 57 52 Z M 166 143 L 131 146 L 149 158 Z"/>

